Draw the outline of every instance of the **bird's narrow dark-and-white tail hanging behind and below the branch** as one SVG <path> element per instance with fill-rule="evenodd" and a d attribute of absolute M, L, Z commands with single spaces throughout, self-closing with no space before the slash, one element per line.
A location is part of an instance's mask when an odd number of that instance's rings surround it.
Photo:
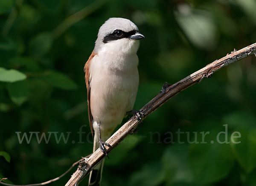
<path fill-rule="evenodd" d="M 97 137 L 95 135 L 94 141 L 93 141 L 93 152 L 95 152 L 96 149 L 98 149 L 98 148 L 99 148 L 99 139 L 97 139 Z M 103 164 L 104 164 L 104 159 L 96 167 L 94 167 L 93 170 L 90 172 L 88 186 L 99 186 L 100 185 Z"/>

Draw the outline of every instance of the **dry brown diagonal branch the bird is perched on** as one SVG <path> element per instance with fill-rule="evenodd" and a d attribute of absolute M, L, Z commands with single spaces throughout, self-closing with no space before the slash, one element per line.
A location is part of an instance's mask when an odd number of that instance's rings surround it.
<path fill-rule="evenodd" d="M 151 101 L 143 106 L 142 109 L 140 109 L 140 112 L 143 114 L 143 119 L 145 119 L 145 117 L 151 114 L 151 112 L 156 110 L 158 107 L 163 105 L 171 97 L 175 96 L 189 86 L 192 86 L 195 83 L 200 83 L 201 80 L 211 77 L 214 72 L 223 68 L 224 66 L 227 66 L 230 63 L 241 60 L 252 54 L 256 56 L 256 43 L 239 51 L 234 49 L 234 52 L 231 52 L 231 54 L 227 54 L 227 56 L 222 57 L 219 60 L 215 60 L 214 62 L 205 66 L 203 69 L 198 70 L 197 72 L 189 75 L 188 77 L 185 77 L 183 80 L 180 80 L 173 85 L 164 87 L 162 92 L 157 94 Z M 131 117 L 106 141 L 112 146 L 112 148 L 106 147 L 107 151 L 110 152 L 128 134 L 132 133 L 132 131 L 137 127 L 138 123 L 140 123 L 140 121 L 138 121 L 136 117 Z M 93 167 L 96 166 L 104 157 L 105 155 L 101 152 L 101 150 L 97 149 L 89 158 L 84 159 L 80 163 L 78 169 L 73 173 L 72 177 L 65 186 L 77 186 L 79 182 L 84 178 L 84 176 L 88 175 Z"/>

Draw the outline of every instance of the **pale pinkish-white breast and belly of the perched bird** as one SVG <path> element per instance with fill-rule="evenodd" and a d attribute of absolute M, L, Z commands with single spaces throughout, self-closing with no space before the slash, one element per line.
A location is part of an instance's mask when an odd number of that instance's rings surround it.
<path fill-rule="evenodd" d="M 135 52 L 117 55 L 102 50 L 91 61 L 91 113 L 94 121 L 101 122 L 104 136 L 110 136 L 133 109 L 139 83 L 137 65 Z"/>

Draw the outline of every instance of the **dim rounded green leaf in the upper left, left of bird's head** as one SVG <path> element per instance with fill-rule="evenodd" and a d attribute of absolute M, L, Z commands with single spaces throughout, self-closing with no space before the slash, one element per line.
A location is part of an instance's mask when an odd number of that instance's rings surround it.
<path fill-rule="evenodd" d="M 32 38 L 29 43 L 29 52 L 35 57 L 47 54 L 52 46 L 52 36 L 49 33 L 40 33 Z"/>

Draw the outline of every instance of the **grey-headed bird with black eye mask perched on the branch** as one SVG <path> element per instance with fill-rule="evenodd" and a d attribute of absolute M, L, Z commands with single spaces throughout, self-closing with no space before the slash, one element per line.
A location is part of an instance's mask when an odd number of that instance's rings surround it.
<path fill-rule="evenodd" d="M 85 63 L 88 118 L 93 152 L 108 156 L 105 141 L 133 110 L 139 86 L 137 51 L 144 35 L 125 18 L 112 17 L 99 28 L 93 52 Z M 89 186 L 99 186 L 104 159 L 90 172 Z"/>

